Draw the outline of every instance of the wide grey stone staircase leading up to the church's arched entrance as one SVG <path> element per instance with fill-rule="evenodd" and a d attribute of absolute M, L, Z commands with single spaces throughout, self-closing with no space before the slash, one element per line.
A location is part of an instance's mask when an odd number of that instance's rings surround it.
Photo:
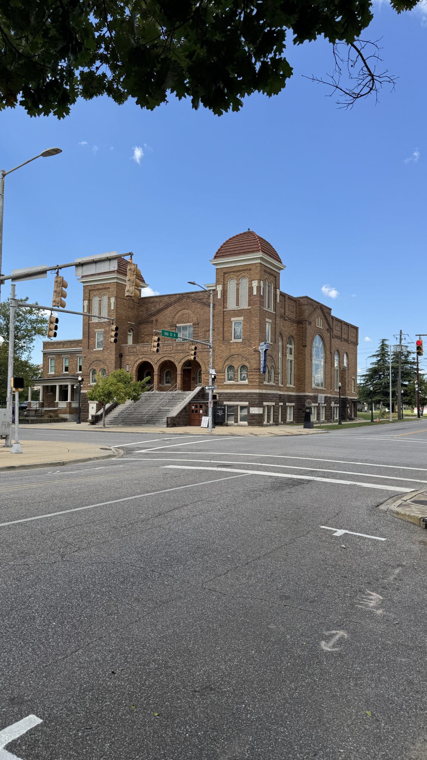
<path fill-rule="evenodd" d="M 112 425 L 159 425 L 166 427 L 167 417 L 175 416 L 201 390 L 150 391 L 142 394 L 139 401 L 119 404 L 108 416 L 106 426 Z"/>

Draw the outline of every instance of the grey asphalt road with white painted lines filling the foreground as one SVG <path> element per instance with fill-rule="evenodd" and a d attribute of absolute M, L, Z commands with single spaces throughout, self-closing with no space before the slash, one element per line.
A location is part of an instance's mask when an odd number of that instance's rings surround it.
<path fill-rule="evenodd" d="M 425 422 L 52 435 L 125 456 L 2 473 L 0 760 L 427 758 L 427 533 L 377 508 Z"/>

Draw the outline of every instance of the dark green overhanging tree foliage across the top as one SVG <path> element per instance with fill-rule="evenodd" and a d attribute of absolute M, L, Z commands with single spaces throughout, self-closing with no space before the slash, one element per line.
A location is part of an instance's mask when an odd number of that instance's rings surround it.
<path fill-rule="evenodd" d="M 391 5 L 400 13 L 417 2 Z M 238 111 L 245 95 L 285 87 L 289 40 L 324 36 L 362 62 L 357 40 L 372 8 L 372 0 L 0 0 L 0 108 L 62 118 L 79 96 L 131 97 L 151 110 L 174 93 L 217 115 Z M 362 77 L 369 71 L 365 62 Z"/>

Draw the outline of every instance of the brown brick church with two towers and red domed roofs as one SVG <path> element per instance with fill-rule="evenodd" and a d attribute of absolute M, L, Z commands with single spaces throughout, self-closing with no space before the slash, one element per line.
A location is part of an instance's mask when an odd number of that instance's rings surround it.
<path fill-rule="evenodd" d="M 138 263 L 138 257 L 134 260 Z M 358 328 L 309 296 L 283 293 L 280 255 L 251 230 L 223 242 L 211 264 L 215 283 L 205 287 L 213 290 L 213 366 L 226 424 L 302 422 L 307 399 L 314 420 L 337 420 L 339 383 L 342 419 L 355 417 Z M 127 268 L 128 261 L 119 257 L 114 271 L 80 278 L 82 310 L 111 318 L 119 325 L 119 340 L 109 343 L 109 325 L 96 316 L 83 318 L 81 338 L 46 340 L 43 376 L 36 381 L 42 388 L 38 406 L 45 411 L 59 407 L 75 419 L 78 374 L 84 378 L 84 399 L 97 372 L 108 375 L 122 368 L 135 379 L 149 376 L 154 393 L 187 398 L 175 419 L 168 416 L 168 424 L 188 424 L 191 406 L 205 410 L 209 350 L 199 344 L 197 360 L 191 361 L 189 343 L 161 338 L 160 352 L 152 353 L 153 329 L 177 331 L 195 345 L 209 340 L 209 293 L 194 290 L 135 301 L 125 296 Z M 265 375 L 258 351 L 262 341 L 270 345 Z M 324 395 L 323 404 L 318 403 L 319 394 Z M 84 400 L 83 409 L 85 405 Z"/>

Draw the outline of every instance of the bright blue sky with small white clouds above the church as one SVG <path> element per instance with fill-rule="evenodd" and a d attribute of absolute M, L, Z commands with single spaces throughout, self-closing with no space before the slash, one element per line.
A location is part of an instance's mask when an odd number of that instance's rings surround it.
<path fill-rule="evenodd" d="M 133 251 L 153 290 L 174 293 L 187 280 L 211 282 L 218 246 L 250 227 L 286 264 L 282 290 L 359 325 L 359 367 L 381 337 L 427 333 L 427 13 L 397 16 L 382 2 L 368 36 L 382 38 L 384 65 L 399 77 L 376 106 L 338 109 L 326 88 L 302 78 L 331 71 L 331 46 L 294 48 L 289 38 L 285 90 L 220 118 L 173 97 L 154 112 L 130 100 L 80 101 L 61 122 L 2 112 L 5 169 L 44 147 L 63 150 L 6 178 L 3 272 Z M 71 272 L 67 305 L 78 309 Z M 49 304 L 52 277 L 17 293 Z M 59 337 L 79 334 L 79 317 L 62 318 Z"/>

